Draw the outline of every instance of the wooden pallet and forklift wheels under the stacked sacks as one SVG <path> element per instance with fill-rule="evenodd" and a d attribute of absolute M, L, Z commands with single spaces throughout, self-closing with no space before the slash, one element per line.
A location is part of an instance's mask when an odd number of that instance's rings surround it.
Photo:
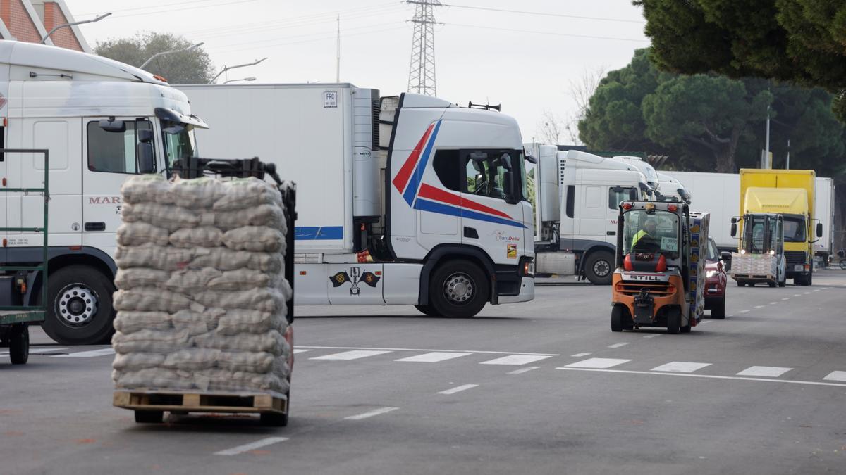
<path fill-rule="evenodd" d="M 167 411 L 255 413 L 264 425 L 288 425 L 288 396 L 278 393 L 115 390 L 113 406 L 135 411 L 136 423 L 162 423 Z"/>

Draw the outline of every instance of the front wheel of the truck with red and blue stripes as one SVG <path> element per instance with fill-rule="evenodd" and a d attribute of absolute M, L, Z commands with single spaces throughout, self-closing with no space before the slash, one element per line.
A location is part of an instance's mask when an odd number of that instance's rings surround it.
<path fill-rule="evenodd" d="M 466 259 L 449 259 L 432 272 L 429 307 L 437 315 L 467 319 L 485 306 L 490 288 L 490 280 L 478 265 Z"/>

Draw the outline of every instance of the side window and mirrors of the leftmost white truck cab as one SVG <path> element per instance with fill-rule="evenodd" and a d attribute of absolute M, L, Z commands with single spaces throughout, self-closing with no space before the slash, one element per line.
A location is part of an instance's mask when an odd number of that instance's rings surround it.
<path fill-rule="evenodd" d="M 152 132 L 152 124 L 146 120 L 124 121 L 125 129 L 109 131 L 100 123 L 91 121 L 87 125 L 88 169 L 92 172 L 138 173 L 138 130 Z"/>

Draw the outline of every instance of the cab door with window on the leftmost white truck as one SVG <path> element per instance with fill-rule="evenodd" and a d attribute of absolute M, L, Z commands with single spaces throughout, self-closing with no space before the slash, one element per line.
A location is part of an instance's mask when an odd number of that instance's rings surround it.
<path fill-rule="evenodd" d="M 82 173 L 82 243 L 114 255 L 115 231 L 120 226 L 120 187 L 142 172 L 156 172 L 153 126 L 142 117 L 115 117 L 101 126 L 101 119 L 85 117 Z"/>

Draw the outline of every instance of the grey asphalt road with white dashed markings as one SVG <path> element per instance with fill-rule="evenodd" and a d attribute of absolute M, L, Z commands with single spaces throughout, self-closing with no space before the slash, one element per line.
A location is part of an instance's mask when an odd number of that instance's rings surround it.
<path fill-rule="evenodd" d="M 109 347 L 0 356 L 0 473 L 846 472 L 846 272 L 730 287 L 689 335 L 613 333 L 609 288 L 475 319 L 298 308 L 287 428 L 136 424 Z M 3 349 L 0 349 L 2 351 Z"/>

